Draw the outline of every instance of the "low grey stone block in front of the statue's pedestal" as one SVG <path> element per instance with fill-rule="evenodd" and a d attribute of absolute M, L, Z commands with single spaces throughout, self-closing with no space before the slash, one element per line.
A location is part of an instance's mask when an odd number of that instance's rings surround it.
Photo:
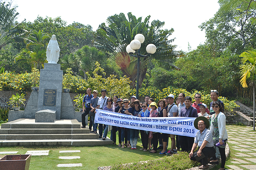
<path fill-rule="evenodd" d="M 35 122 L 52 122 L 56 120 L 56 110 L 40 110 L 35 113 Z"/>

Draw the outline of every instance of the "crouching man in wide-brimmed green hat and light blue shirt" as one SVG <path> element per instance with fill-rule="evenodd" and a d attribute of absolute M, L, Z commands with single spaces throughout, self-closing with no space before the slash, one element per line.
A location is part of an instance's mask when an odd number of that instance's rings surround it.
<path fill-rule="evenodd" d="M 200 116 L 194 121 L 194 126 L 198 131 L 195 135 L 195 142 L 189 153 L 189 158 L 193 161 L 198 161 L 202 163 L 199 167 L 200 169 L 209 168 L 208 158 L 215 155 L 215 149 L 213 148 L 212 132 L 208 129 L 210 126 L 209 120 Z M 198 145 L 198 149 L 193 153 Z"/>

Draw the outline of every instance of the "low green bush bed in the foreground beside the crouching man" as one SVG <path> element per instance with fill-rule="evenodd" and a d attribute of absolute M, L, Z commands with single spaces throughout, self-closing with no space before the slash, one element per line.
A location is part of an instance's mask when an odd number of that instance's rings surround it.
<path fill-rule="evenodd" d="M 199 165 L 199 163 L 191 161 L 188 153 L 178 152 L 173 156 L 164 156 L 163 158 L 147 162 L 112 165 L 111 170 L 184 170 L 197 165 Z"/>

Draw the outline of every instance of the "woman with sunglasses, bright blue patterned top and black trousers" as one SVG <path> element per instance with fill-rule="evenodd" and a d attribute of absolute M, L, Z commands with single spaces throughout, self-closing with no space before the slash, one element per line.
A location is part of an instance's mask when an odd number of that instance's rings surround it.
<path fill-rule="evenodd" d="M 148 111 L 148 104 L 146 102 L 142 103 L 142 110 L 138 114 L 138 117 L 149 117 L 149 111 Z M 148 150 L 148 131 L 140 130 L 140 136 L 141 136 L 141 142 L 143 148 L 140 150 L 143 150 L 146 152 Z"/>

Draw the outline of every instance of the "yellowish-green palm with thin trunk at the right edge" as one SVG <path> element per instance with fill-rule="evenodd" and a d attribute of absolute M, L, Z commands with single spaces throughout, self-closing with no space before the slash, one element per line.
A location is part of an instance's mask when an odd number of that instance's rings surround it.
<path fill-rule="evenodd" d="M 240 83 L 242 87 L 248 87 L 246 79 L 250 78 L 252 74 L 252 81 L 250 86 L 253 86 L 253 130 L 255 131 L 255 78 L 256 75 L 256 50 L 248 50 L 240 55 L 242 57 L 240 65 L 241 80 Z"/>

